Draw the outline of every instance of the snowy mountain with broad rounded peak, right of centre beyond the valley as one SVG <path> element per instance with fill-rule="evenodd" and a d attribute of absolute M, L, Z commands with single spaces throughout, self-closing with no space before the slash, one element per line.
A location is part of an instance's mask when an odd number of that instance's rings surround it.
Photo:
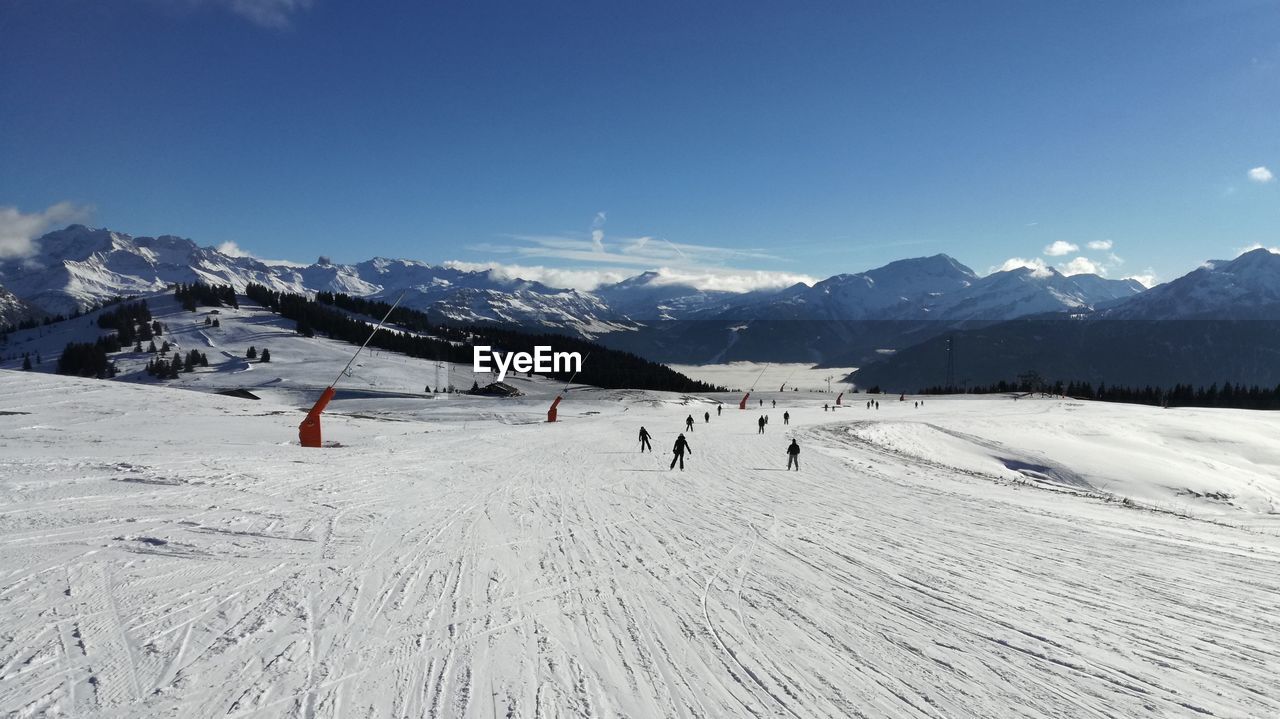
<path fill-rule="evenodd" d="M 1056 311 L 1089 311 L 1140 293 L 1134 280 L 1015 269 L 978 276 L 946 255 L 890 262 L 733 297 L 602 342 L 664 362 L 818 362 L 863 366 L 884 351 L 959 326 Z"/>

